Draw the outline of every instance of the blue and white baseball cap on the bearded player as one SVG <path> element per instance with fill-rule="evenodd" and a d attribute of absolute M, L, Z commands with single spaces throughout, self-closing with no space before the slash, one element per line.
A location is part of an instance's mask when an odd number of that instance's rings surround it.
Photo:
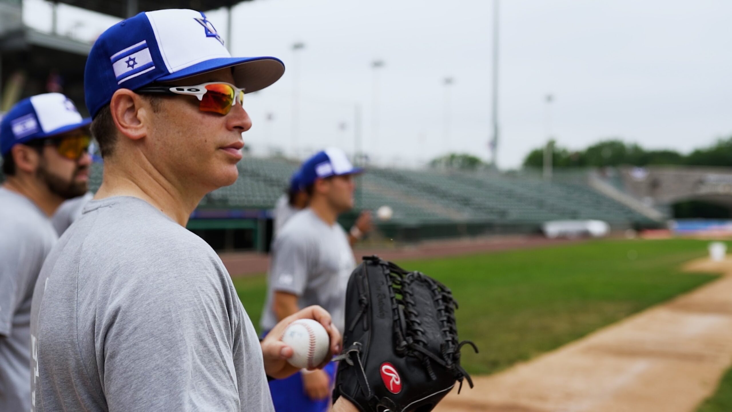
<path fill-rule="evenodd" d="M 20 100 L 0 122 L 0 155 L 15 144 L 45 139 L 89 125 L 74 102 L 61 93 L 45 93 Z"/>

